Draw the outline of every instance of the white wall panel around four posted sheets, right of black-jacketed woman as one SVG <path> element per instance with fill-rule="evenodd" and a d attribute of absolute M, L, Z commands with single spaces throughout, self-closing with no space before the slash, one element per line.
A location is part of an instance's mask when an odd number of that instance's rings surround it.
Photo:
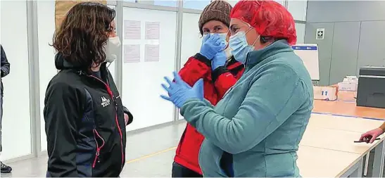
<path fill-rule="evenodd" d="M 172 103 L 160 98 L 163 93 L 160 84 L 164 82 L 163 76 L 171 77 L 175 69 L 176 18 L 175 12 L 123 8 L 123 20 L 139 21 L 141 28 L 139 39 L 124 39 L 125 34 L 122 37 L 123 45 L 140 45 L 138 62 L 125 63 L 125 47 L 122 52 L 122 101 L 135 117 L 135 121 L 127 129 L 139 129 L 172 121 L 174 107 Z M 145 39 L 146 22 L 160 24 L 160 39 Z M 145 61 L 146 44 L 159 45 L 158 62 Z M 132 53 L 130 56 L 133 56 Z"/>

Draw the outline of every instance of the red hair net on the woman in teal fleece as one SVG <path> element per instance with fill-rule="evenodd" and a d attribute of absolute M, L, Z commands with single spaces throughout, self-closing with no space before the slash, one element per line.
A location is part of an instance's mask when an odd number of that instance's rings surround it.
<path fill-rule="evenodd" d="M 261 37 L 285 38 L 290 45 L 297 42 L 293 16 L 281 4 L 271 0 L 239 1 L 230 18 L 248 23 Z"/>

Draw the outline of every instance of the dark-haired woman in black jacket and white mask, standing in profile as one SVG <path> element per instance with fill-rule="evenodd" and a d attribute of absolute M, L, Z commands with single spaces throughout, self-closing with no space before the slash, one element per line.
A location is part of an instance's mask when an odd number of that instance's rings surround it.
<path fill-rule="evenodd" d="M 106 68 L 120 47 L 114 18 L 108 6 L 80 3 L 53 37 L 60 72 L 44 100 L 47 177 L 118 177 L 125 165 L 132 115 Z"/>

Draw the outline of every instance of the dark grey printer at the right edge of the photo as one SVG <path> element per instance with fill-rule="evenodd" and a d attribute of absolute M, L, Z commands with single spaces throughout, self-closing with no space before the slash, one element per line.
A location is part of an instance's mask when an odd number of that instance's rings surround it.
<path fill-rule="evenodd" d="M 357 106 L 385 108 L 385 67 L 360 68 Z"/>

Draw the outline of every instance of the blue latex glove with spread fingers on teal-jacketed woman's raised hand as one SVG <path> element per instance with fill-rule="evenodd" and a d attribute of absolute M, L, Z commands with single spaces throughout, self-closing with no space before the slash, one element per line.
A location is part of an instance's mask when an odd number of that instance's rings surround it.
<path fill-rule="evenodd" d="M 193 87 L 189 87 L 177 72 L 173 74 L 175 82 L 171 82 L 168 77 L 165 77 L 166 82 L 168 82 L 170 86 L 167 87 L 165 84 L 162 84 L 163 89 L 168 92 L 168 96 L 161 95 L 160 97 L 171 101 L 177 108 L 182 108 L 184 103 L 192 98 L 198 98 L 203 101 L 203 79 L 198 80 Z"/>

